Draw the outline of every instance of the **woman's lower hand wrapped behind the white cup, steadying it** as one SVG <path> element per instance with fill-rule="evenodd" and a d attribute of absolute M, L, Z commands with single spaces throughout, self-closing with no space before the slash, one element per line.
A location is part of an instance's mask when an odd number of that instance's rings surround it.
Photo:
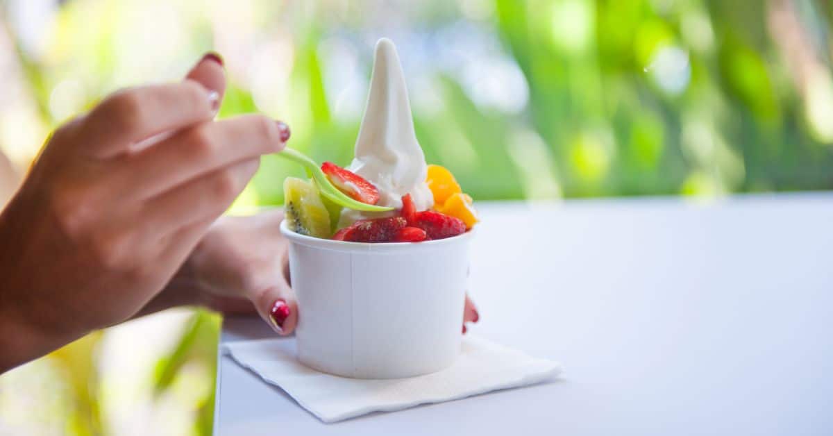
<path fill-rule="evenodd" d="M 290 287 L 289 242 L 280 231 L 282 219 L 282 211 L 272 210 L 217 220 L 142 314 L 198 304 L 222 313 L 257 312 L 277 333 L 292 333 L 298 308 Z M 476 323 L 478 318 L 466 297 L 463 323 Z M 465 325 L 462 331 L 466 333 Z"/>

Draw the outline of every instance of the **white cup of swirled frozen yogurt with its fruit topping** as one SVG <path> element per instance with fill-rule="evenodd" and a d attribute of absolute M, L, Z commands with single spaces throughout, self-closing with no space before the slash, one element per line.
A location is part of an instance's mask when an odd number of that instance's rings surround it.
<path fill-rule="evenodd" d="M 285 181 L 281 230 L 290 240 L 299 360 L 355 378 L 451 365 L 477 216 L 453 175 L 426 165 L 390 40 L 377 43 L 356 157 L 321 169 L 353 200 L 388 210 L 344 208 L 313 179 Z"/>

